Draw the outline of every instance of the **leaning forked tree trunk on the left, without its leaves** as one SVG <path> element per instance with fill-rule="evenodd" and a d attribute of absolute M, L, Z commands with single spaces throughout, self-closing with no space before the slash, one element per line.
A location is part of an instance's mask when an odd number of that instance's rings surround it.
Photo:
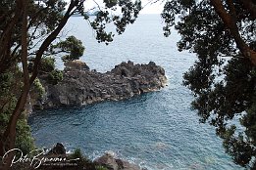
<path fill-rule="evenodd" d="M 59 25 L 56 29 L 44 40 L 42 45 L 40 46 L 39 50 L 37 51 L 34 66 L 32 70 L 31 77 L 29 78 L 28 70 L 27 70 L 27 0 L 22 0 L 24 5 L 24 18 L 23 18 L 23 28 L 22 28 L 22 64 L 24 70 L 24 88 L 21 97 L 15 107 L 14 112 L 12 113 L 7 129 L 5 130 L 4 136 L 0 141 L 0 153 L 3 155 L 6 151 L 15 148 L 15 141 L 16 141 L 16 125 L 18 119 L 22 112 L 24 111 L 24 107 L 26 105 L 26 97 L 28 95 L 30 86 L 32 85 L 34 79 L 38 73 L 38 66 L 40 64 L 41 58 L 43 56 L 44 51 L 48 48 L 48 46 L 56 39 L 60 31 L 63 29 L 69 18 L 71 17 L 72 10 L 77 6 L 78 1 L 72 1 L 68 11 L 66 12 L 62 21 L 60 21 Z M 4 160 L 4 163 L 0 169 L 1 170 L 8 170 L 10 169 L 12 158 L 14 154 L 9 154 L 7 158 Z"/>

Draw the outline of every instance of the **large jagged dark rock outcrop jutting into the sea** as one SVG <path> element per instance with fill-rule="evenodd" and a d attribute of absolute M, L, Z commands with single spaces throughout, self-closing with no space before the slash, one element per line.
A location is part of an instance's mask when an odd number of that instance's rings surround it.
<path fill-rule="evenodd" d="M 44 107 L 84 106 L 106 100 L 124 100 L 157 91 L 167 82 L 164 68 L 153 62 L 122 63 L 105 73 L 89 70 L 84 63 L 73 62 L 66 64 L 63 73 L 63 81 L 57 85 L 46 85 Z"/>

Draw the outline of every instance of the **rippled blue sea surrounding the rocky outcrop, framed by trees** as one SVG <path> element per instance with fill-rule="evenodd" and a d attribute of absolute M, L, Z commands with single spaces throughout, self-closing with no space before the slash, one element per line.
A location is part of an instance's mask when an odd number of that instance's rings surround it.
<path fill-rule="evenodd" d="M 241 169 L 225 153 L 213 127 L 199 124 L 190 109 L 193 97 L 181 83 L 195 55 L 178 52 L 177 33 L 163 36 L 158 15 L 140 16 L 109 46 L 98 44 L 81 18 L 72 18 L 66 30 L 84 43 L 82 60 L 90 68 L 107 71 L 128 60 L 153 61 L 165 68 L 169 86 L 126 101 L 38 111 L 29 117 L 37 146 L 60 142 L 90 158 L 112 150 L 152 170 Z"/>

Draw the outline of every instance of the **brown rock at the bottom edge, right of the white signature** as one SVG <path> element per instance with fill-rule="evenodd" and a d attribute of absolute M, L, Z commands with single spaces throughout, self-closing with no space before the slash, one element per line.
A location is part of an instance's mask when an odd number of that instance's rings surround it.
<path fill-rule="evenodd" d="M 109 153 L 94 160 L 95 163 L 102 165 L 109 170 L 140 170 L 139 166 L 129 163 L 126 160 L 115 158 Z"/>

